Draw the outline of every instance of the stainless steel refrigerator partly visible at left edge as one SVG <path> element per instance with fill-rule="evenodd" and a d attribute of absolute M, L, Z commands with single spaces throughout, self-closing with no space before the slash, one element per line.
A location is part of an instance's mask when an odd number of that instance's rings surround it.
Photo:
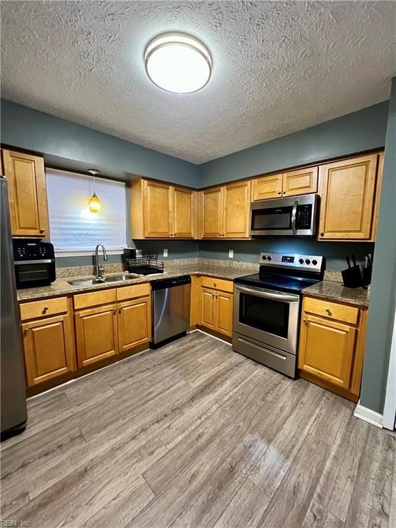
<path fill-rule="evenodd" d="M 25 429 L 28 415 L 8 207 L 8 184 L 3 176 L 0 176 L 0 276 L 0 421 L 1 439 L 5 439 Z"/>

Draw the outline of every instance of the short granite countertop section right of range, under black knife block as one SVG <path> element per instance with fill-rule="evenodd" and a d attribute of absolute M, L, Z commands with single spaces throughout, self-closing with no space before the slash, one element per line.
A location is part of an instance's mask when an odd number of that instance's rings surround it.
<path fill-rule="evenodd" d="M 368 307 L 370 290 L 360 288 L 346 288 L 342 283 L 322 281 L 305 288 L 304 295 L 321 299 L 337 300 L 340 303 Z"/>

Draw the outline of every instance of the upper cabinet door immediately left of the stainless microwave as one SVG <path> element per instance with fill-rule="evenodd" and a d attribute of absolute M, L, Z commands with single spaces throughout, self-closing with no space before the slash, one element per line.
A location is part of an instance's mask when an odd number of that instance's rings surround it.
<path fill-rule="evenodd" d="M 223 236 L 248 239 L 250 221 L 250 181 L 224 187 Z"/>

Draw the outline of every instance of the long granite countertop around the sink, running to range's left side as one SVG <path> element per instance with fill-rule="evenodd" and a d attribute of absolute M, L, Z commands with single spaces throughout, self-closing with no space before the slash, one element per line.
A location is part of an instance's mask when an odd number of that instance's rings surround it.
<path fill-rule="evenodd" d="M 69 276 L 64 278 L 57 278 L 50 286 L 26 288 L 17 290 L 18 300 L 35 300 L 40 298 L 56 297 L 61 295 L 73 295 L 83 292 L 91 292 L 98 289 L 108 289 L 119 286 L 129 286 L 140 283 L 147 283 L 151 281 L 158 281 L 161 278 L 173 278 L 182 275 L 208 275 L 217 278 L 225 278 L 233 281 L 234 278 L 254 273 L 254 270 L 248 270 L 246 267 L 238 266 L 219 266 L 206 264 L 193 264 L 175 267 L 174 269 L 165 270 L 164 274 L 155 276 L 130 278 L 128 281 L 116 281 L 112 283 L 101 283 L 89 286 L 72 286 L 68 281 L 78 281 L 93 278 L 93 276 Z M 107 273 L 105 276 L 120 275 L 118 273 Z M 126 274 L 127 275 L 127 274 Z"/>

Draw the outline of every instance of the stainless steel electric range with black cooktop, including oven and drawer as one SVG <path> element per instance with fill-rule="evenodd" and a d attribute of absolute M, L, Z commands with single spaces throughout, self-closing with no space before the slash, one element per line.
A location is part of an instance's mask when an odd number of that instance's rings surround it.
<path fill-rule="evenodd" d="M 234 280 L 232 349 L 296 377 L 301 292 L 322 281 L 324 259 L 265 252 L 259 263 Z"/>

